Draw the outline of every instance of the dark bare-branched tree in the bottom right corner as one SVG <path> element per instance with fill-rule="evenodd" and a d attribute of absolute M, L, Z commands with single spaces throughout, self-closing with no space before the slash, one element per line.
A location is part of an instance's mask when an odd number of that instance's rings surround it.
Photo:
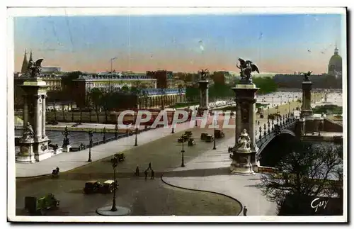
<path fill-rule="evenodd" d="M 285 155 L 275 165 L 278 173 L 262 175 L 258 187 L 269 201 L 278 205 L 281 215 L 296 216 L 303 213 L 304 201 L 309 196 L 332 197 L 338 191 L 333 179 L 335 174 L 341 174 L 338 171 L 343 164 L 343 148 L 299 140 L 287 145 L 283 149 Z"/>

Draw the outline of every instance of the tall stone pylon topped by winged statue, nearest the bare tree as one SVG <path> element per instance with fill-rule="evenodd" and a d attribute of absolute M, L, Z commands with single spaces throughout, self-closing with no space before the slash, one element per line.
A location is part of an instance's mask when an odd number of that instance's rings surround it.
<path fill-rule="evenodd" d="M 256 145 L 256 92 L 259 88 L 252 83 L 251 72 L 258 67 L 250 60 L 239 59 L 241 80 L 232 90 L 236 101 L 235 145 L 232 150 L 232 174 L 250 175 L 258 171 L 258 147 Z"/>

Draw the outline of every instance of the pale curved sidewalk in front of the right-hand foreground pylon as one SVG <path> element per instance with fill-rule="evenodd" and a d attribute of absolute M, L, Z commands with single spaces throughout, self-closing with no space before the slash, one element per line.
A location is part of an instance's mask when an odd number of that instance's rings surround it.
<path fill-rule="evenodd" d="M 173 169 L 173 172 L 187 171 L 193 169 L 215 169 L 217 171 L 229 171 L 232 160 L 227 153 L 227 147 L 234 145 L 234 138 L 227 140 L 227 143 L 217 145 L 217 150 L 208 150 L 185 164 L 185 167 Z M 193 173 L 192 171 L 190 171 Z M 183 173 L 185 174 L 185 173 Z M 231 196 L 238 200 L 242 208 L 248 208 L 247 216 L 276 216 L 276 205 L 265 199 L 261 190 L 255 187 L 258 184 L 261 174 L 242 175 L 212 175 L 205 177 L 162 177 L 162 179 L 173 186 L 202 191 L 213 191 L 219 194 Z M 240 214 L 242 216 L 242 213 Z"/>

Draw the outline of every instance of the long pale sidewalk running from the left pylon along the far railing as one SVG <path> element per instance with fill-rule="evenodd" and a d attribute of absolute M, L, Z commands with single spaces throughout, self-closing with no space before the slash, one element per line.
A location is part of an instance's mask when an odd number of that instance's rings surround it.
<path fill-rule="evenodd" d="M 193 126 L 194 125 L 190 122 L 178 124 L 175 128 L 175 133 L 193 128 Z M 137 143 L 138 145 L 144 145 L 145 143 L 149 143 L 159 138 L 164 138 L 167 135 L 171 135 L 171 128 L 157 128 L 155 130 L 149 130 L 137 135 Z M 127 138 L 120 138 L 119 140 L 113 140 L 102 145 L 97 145 L 91 148 L 91 160 L 92 162 L 95 162 L 115 153 L 130 150 L 134 147 L 134 144 L 135 135 Z M 86 149 L 79 152 L 62 152 L 61 154 L 50 157 L 47 160 L 42 160 L 33 164 L 16 163 L 16 178 L 51 174 L 52 169 L 55 169 L 55 167 L 59 167 L 60 172 L 66 172 L 91 163 L 87 162 L 88 159 L 89 149 Z"/>

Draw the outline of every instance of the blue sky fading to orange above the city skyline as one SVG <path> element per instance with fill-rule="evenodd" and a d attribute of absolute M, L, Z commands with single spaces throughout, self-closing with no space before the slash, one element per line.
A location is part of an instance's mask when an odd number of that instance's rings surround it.
<path fill-rule="evenodd" d="M 110 71 L 112 62 L 119 72 L 237 72 L 241 57 L 261 72 L 321 74 L 335 45 L 340 55 L 346 48 L 343 20 L 328 13 L 16 17 L 15 71 L 32 50 L 42 66 L 63 71 Z"/>

